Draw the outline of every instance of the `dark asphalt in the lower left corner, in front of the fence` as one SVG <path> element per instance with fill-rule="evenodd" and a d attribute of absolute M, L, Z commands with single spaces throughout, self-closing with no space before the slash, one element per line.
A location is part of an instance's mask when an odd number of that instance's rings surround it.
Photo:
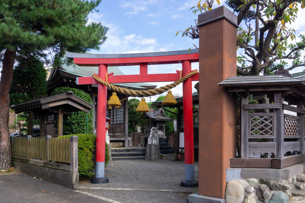
<path fill-rule="evenodd" d="M 111 202 L 105 197 L 95 197 L 72 189 L 34 179 L 22 173 L 0 173 L 0 202 Z"/>

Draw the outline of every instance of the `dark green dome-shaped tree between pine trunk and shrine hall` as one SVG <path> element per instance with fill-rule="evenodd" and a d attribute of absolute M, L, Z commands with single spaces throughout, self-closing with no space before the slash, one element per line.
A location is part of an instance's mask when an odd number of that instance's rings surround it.
<path fill-rule="evenodd" d="M 13 72 L 10 105 L 18 105 L 47 95 L 47 72 L 37 57 L 21 58 Z"/>

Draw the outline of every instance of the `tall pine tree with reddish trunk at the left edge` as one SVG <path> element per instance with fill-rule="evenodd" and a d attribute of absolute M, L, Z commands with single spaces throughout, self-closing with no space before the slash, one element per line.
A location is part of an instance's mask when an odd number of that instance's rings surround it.
<path fill-rule="evenodd" d="M 20 57 L 45 57 L 50 50 L 56 57 L 64 51 L 98 49 L 107 28 L 88 23 L 88 14 L 101 0 L 2 0 L 0 2 L 0 170 L 11 165 L 9 136 L 9 89 L 13 67 Z"/>

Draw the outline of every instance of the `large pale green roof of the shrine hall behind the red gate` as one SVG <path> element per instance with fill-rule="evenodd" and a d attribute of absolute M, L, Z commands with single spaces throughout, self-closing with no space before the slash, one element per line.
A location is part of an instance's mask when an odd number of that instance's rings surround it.
<path fill-rule="evenodd" d="M 60 67 L 56 67 L 52 70 L 52 73 L 48 80 L 48 87 L 54 85 L 58 82 L 60 76 L 65 76 L 68 78 L 76 79 L 77 77 L 90 77 L 94 73 L 98 74 L 99 68 L 97 66 L 79 66 L 76 64 L 62 64 Z M 121 70 L 116 66 L 108 66 L 108 73 L 113 73 L 113 75 L 125 75 Z M 151 85 L 148 83 L 120 83 L 114 84 L 116 86 L 121 86 L 130 89 L 154 89 L 156 85 Z"/>

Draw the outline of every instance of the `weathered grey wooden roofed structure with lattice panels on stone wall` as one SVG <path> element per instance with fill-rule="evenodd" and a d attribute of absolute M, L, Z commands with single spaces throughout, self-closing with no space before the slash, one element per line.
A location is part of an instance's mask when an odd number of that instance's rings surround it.
<path fill-rule="evenodd" d="M 219 83 L 241 100 L 240 158 L 231 167 L 284 168 L 305 161 L 305 82 L 283 75 L 229 77 Z M 250 104 L 250 95 L 259 104 Z M 265 104 L 263 100 L 269 100 Z M 254 158 L 255 154 L 269 158 Z"/>

